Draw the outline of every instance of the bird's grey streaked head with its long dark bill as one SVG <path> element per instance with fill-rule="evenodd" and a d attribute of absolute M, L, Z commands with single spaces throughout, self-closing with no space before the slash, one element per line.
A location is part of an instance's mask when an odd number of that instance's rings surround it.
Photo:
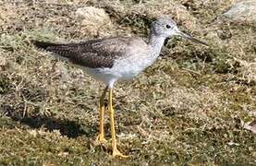
<path fill-rule="evenodd" d="M 177 23 L 166 16 L 157 18 L 155 21 L 152 22 L 151 28 L 152 34 L 164 38 L 170 38 L 173 36 L 180 36 L 185 39 L 189 39 L 190 41 L 198 42 L 204 45 L 207 45 L 204 41 L 197 40 L 177 29 Z"/>

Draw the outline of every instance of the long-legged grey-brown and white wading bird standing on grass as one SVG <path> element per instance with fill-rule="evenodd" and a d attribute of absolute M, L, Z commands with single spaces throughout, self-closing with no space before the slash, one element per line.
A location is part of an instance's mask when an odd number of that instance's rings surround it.
<path fill-rule="evenodd" d="M 116 131 L 112 94 L 117 80 L 131 79 L 152 65 L 161 52 L 166 38 L 181 36 L 191 41 L 205 44 L 177 29 L 176 22 L 161 17 L 152 22 L 148 41 L 139 37 L 116 37 L 79 43 L 49 43 L 33 41 L 46 51 L 66 58 L 69 62 L 82 67 L 91 77 L 104 82 L 106 88 L 100 97 L 100 133 L 97 141 L 104 143 L 104 97 L 108 91 L 108 111 L 111 123 L 113 156 L 127 157 L 116 148 Z"/>

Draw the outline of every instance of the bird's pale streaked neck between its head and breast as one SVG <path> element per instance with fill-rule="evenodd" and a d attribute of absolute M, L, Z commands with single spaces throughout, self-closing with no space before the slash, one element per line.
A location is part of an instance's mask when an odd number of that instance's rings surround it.
<path fill-rule="evenodd" d="M 150 35 L 149 46 L 151 48 L 151 56 L 153 59 L 156 59 L 161 52 L 161 49 L 164 45 L 165 37 L 157 36 L 155 34 Z"/>

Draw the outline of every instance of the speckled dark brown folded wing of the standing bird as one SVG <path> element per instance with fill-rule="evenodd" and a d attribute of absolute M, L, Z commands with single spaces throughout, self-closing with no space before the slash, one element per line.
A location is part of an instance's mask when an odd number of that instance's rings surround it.
<path fill-rule="evenodd" d="M 128 38 L 108 38 L 67 44 L 32 42 L 38 48 L 65 57 L 76 65 L 91 68 L 111 68 L 116 58 L 125 55 L 125 49 L 130 40 Z"/>

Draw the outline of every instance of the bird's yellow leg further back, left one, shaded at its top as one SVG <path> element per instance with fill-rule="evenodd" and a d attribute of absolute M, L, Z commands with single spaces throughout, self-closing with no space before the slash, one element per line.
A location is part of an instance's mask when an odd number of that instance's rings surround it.
<path fill-rule="evenodd" d="M 100 144 L 104 144 L 106 142 L 106 139 L 104 138 L 104 97 L 105 97 L 105 93 L 107 91 L 107 87 L 104 89 L 104 92 L 100 98 L 100 134 L 99 136 L 97 136 L 96 138 L 96 142 L 100 143 Z"/>

